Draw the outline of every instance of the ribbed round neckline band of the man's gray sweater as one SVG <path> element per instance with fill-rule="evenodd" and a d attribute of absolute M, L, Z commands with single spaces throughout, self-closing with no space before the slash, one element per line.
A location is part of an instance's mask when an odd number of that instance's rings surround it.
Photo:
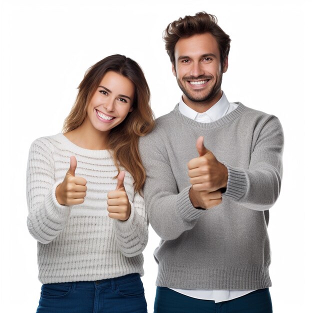
<path fill-rule="evenodd" d="M 202 129 L 212 129 L 212 128 L 220 127 L 229 123 L 230 121 L 234 120 L 235 118 L 237 118 L 243 113 L 246 107 L 241 102 L 234 102 L 234 103 L 237 103 L 238 106 L 233 111 L 231 111 L 230 113 L 210 123 L 201 123 L 199 121 L 195 121 L 183 115 L 178 109 L 178 103 L 175 105 L 174 109 L 172 110 L 172 113 L 175 115 L 177 119 L 193 127 L 202 128 Z"/>

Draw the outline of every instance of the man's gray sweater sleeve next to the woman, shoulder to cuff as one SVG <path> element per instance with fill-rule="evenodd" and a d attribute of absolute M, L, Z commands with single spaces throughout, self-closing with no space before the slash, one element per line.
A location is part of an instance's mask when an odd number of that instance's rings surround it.
<path fill-rule="evenodd" d="M 190 186 L 178 192 L 164 146 L 147 135 L 140 138 L 139 149 L 146 170 L 143 193 L 149 222 L 162 239 L 175 239 L 191 229 L 205 210 L 191 204 Z"/>

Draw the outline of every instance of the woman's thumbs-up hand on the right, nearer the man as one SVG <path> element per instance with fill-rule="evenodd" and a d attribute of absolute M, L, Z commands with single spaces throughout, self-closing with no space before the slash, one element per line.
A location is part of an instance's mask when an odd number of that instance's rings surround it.
<path fill-rule="evenodd" d="M 114 219 L 127 220 L 130 215 L 130 203 L 124 187 L 125 172 L 120 171 L 117 175 L 115 191 L 107 193 L 108 216 Z"/>

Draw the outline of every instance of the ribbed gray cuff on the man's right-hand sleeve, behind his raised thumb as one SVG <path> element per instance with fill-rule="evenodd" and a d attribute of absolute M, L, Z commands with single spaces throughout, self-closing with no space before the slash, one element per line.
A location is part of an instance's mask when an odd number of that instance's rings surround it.
<path fill-rule="evenodd" d="M 247 190 L 247 179 L 244 171 L 240 168 L 232 167 L 228 164 L 224 165 L 228 170 L 228 181 L 226 191 L 223 196 L 229 196 L 233 199 L 240 199 Z"/>

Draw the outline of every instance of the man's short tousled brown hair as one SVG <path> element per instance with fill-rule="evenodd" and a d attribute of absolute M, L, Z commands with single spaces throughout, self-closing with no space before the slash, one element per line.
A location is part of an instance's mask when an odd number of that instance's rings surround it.
<path fill-rule="evenodd" d="M 186 15 L 169 23 L 163 32 L 165 49 L 172 64 L 175 64 L 175 44 L 179 38 L 187 38 L 195 34 L 209 32 L 217 41 L 220 63 L 223 66 L 225 58 L 228 56 L 230 48 L 230 38 L 218 25 L 215 15 L 204 11 L 196 13 L 194 16 Z"/>

